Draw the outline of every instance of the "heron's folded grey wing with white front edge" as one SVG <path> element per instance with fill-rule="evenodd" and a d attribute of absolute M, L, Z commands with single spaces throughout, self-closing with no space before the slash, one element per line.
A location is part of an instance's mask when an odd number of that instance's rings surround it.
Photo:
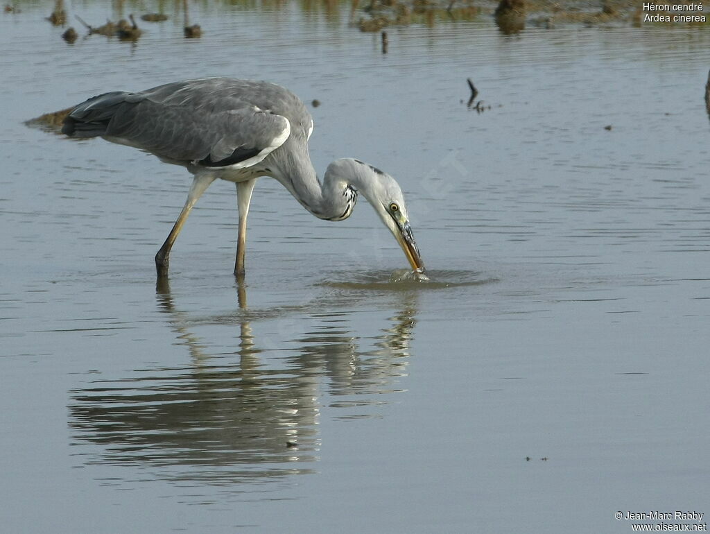
<path fill-rule="evenodd" d="M 168 160 L 243 168 L 266 158 L 290 134 L 284 116 L 229 99 L 209 105 L 195 96 L 155 102 L 150 94 L 129 94 L 104 137 Z"/>

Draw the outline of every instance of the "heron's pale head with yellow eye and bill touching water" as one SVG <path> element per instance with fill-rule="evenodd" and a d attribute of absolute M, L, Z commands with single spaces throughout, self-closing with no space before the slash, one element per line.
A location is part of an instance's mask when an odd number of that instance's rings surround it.
<path fill-rule="evenodd" d="M 367 199 L 386 227 L 390 229 L 413 270 L 424 272 L 424 262 L 414 241 L 407 205 L 397 180 L 368 163 L 352 158 L 335 160 L 326 175 L 344 180 Z"/>

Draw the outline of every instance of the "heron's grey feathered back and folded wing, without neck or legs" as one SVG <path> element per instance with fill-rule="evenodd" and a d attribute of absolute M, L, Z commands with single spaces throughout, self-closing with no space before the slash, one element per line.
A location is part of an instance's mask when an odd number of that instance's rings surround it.
<path fill-rule="evenodd" d="M 277 85 L 192 80 L 94 97 L 70 113 L 62 131 L 103 136 L 179 163 L 248 166 L 290 135 L 290 121 L 273 111 L 279 108 L 295 109 L 300 122 L 310 121 L 302 103 Z"/>

